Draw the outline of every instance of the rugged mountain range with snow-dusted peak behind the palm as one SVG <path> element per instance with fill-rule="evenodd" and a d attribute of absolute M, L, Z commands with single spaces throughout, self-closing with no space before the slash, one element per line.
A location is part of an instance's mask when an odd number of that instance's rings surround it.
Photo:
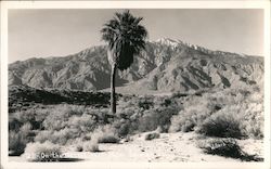
<path fill-rule="evenodd" d="M 29 58 L 9 65 L 9 84 L 93 91 L 109 88 L 104 46 L 63 57 Z M 147 42 L 132 66 L 118 72 L 118 87 L 154 91 L 196 91 L 263 84 L 263 57 L 211 51 L 180 40 Z"/>

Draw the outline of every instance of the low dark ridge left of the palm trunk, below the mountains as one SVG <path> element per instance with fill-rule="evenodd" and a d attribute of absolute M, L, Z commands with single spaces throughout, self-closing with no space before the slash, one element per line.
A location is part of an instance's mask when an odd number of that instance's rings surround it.
<path fill-rule="evenodd" d="M 120 98 L 117 94 L 117 100 Z M 13 113 L 35 104 L 77 104 L 85 106 L 107 107 L 108 92 L 83 92 L 75 90 L 39 90 L 27 86 L 10 86 L 9 112 Z"/>

